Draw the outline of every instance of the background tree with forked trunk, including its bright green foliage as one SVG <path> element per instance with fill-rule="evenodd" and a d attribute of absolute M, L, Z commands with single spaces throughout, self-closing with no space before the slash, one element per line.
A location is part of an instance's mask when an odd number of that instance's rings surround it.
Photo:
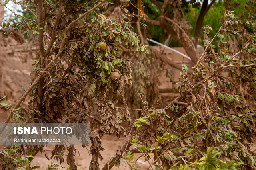
<path fill-rule="evenodd" d="M 214 6 L 214 4 L 216 4 L 216 6 Z M 248 18 L 248 15 L 253 14 L 254 9 L 254 5 L 252 4 L 252 2 L 245 3 L 245 1 L 243 0 L 238 0 L 235 2 L 226 0 L 225 3 L 221 0 L 201 0 L 200 2 L 196 0 L 189 2 L 186 0 L 146 0 L 142 2 L 142 6 L 145 7 L 141 8 L 141 10 L 142 13 L 145 13 L 147 15 L 146 22 L 149 23 L 150 26 L 157 26 L 154 27 L 154 30 L 159 30 L 160 28 L 162 28 L 163 31 L 158 31 L 158 34 L 162 34 L 165 37 L 164 41 L 166 40 L 168 35 L 171 35 L 171 37 L 175 39 L 177 43 L 179 43 L 182 47 L 184 47 L 184 49 L 186 49 L 186 52 L 188 53 L 194 64 L 197 63 L 197 60 L 199 59 L 197 45 L 199 43 L 199 37 L 200 35 L 202 35 L 202 26 L 209 25 L 209 22 L 204 23 L 204 18 L 209 10 L 211 11 L 212 15 L 216 14 L 212 16 L 215 20 L 218 18 L 217 16 L 219 16 L 220 20 L 220 16 L 223 16 L 223 13 L 225 12 L 225 7 L 230 11 L 236 10 L 236 16 L 239 17 L 240 14 L 244 13 L 244 8 L 248 9 L 244 14 L 246 19 Z M 244 8 L 240 8 L 240 6 Z M 252 8 L 249 9 L 248 6 L 251 6 Z M 140 13 L 141 10 L 139 9 L 138 13 Z M 135 12 L 135 10 L 132 11 Z M 193 14 L 193 11 L 196 13 Z M 212 19 L 212 17 L 210 18 L 210 20 Z M 209 21 L 208 18 L 209 16 L 207 17 L 207 20 Z M 214 23 L 214 28 L 216 29 L 211 33 L 212 35 L 215 35 L 214 32 L 218 31 L 218 27 L 220 27 L 221 25 L 218 24 L 218 22 L 222 21 L 220 20 L 216 22 Z M 191 27 L 192 25 L 193 27 Z M 164 32 L 167 33 L 167 36 Z M 146 39 L 147 36 L 148 35 L 146 35 L 145 33 L 143 36 L 141 35 L 140 37 Z M 158 37 L 160 36 L 158 35 Z M 175 63 L 170 61 L 165 62 L 181 70 L 181 67 L 178 67 Z"/>

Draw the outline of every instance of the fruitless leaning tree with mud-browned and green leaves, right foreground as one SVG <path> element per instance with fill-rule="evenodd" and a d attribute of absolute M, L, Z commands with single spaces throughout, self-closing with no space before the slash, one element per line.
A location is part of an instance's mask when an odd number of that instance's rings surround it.
<path fill-rule="evenodd" d="M 182 63 L 180 95 L 160 108 L 142 99 L 142 116 L 122 155 L 131 168 L 137 153 L 150 169 L 255 168 L 256 46 L 254 33 L 244 26 L 256 28 L 228 12 L 214 37 L 212 28 L 204 27 L 206 49 L 191 78 Z M 119 159 L 116 155 L 110 163 Z"/>

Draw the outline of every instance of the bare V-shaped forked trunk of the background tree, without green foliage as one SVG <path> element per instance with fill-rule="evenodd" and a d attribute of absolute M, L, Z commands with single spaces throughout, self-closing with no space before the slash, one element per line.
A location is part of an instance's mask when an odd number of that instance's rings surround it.
<path fill-rule="evenodd" d="M 154 4 L 160 11 L 160 15 L 158 15 L 158 20 L 152 20 L 151 18 L 147 18 L 147 22 L 152 25 L 157 25 L 165 29 L 178 43 L 180 43 L 184 48 L 186 48 L 186 52 L 191 57 L 192 61 L 196 63 L 199 55 L 196 50 L 198 45 L 198 38 L 201 33 L 202 23 L 204 20 L 204 16 L 214 4 L 216 0 L 213 0 L 208 5 L 208 0 L 202 1 L 202 6 L 200 10 L 200 14 L 196 19 L 196 27 L 194 29 L 193 39 L 189 37 L 190 25 L 188 25 L 186 18 L 184 16 L 183 7 L 188 8 L 190 5 L 189 2 L 186 1 L 156 1 L 150 0 L 150 5 Z M 148 1 L 147 1 L 148 2 Z M 192 1 L 192 6 L 198 6 L 200 3 L 196 1 Z M 148 6 L 150 6 L 148 5 Z"/>

